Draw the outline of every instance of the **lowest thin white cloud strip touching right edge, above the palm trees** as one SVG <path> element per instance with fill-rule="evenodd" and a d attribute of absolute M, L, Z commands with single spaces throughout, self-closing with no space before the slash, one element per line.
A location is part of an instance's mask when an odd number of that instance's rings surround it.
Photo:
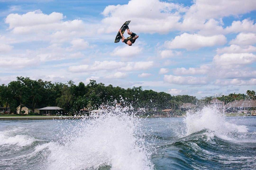
<path fill-rule="evenodd" d="M 253 86 L 253 85 L 256 85 L 256 78 L 252 78 L 250 80 L 241 80 L 241 79 L 220 80 L 220 79 L 217 79 L 215 81 L 215 84 L 220 85 L 220 86 L 230 86 L 230 85 Z"/>

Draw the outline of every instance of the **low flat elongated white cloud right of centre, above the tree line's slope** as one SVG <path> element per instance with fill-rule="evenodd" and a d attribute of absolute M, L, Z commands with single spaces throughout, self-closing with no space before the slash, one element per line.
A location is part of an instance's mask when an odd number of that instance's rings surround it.
<path fill-rule="evenodd" d="M 182 76 L 173 76 L 173 75 L 164 75 L 164 81 L 171 84 L 207 84 L 206 77 L 182 77 Z"/>

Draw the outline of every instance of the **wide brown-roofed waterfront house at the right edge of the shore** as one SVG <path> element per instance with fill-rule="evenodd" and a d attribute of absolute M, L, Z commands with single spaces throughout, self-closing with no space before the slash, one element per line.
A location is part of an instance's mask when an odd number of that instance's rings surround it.
<path fill-rule="evenodd" d="M 256 100 L 235 100 L 225 105 L 227 112 L 256 112 Z"/>

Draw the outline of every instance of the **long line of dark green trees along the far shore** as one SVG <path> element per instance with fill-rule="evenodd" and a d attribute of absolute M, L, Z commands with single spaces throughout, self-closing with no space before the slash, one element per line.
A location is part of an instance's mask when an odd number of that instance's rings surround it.
<path fill-rule="evenodd" d="M 134 108 L 163 110 L 166 108 L 179 109 L 182 103 L 206 105 L 213 96 L 197 99 L 190 95 L 170 95 L 165 92 L 143 90 L 142 87 L 121 88 L 111 84 L 105 86 L 90 80 L 87 85 L 80 82 L 76 85 L 72 80 L 67 83 L 52 83 L 51 81 L 31 80 L 29 77 L 17 77 L 15 81 L 0 86 L 0 106 L 10 107 L 16 113 L 16 107 L 29 106 L 33 112 L 35 108 L 59 106 L 65 113 L 76 114 L 81 109 L 98 109 L 101 105 L 125 103 Z M 239 99 L 256 99 L 255 91 L 246 94 L 229 94 L 217 97 L 225 104 Z M 122 102 L 124 100 L 125 102 Z"/>

